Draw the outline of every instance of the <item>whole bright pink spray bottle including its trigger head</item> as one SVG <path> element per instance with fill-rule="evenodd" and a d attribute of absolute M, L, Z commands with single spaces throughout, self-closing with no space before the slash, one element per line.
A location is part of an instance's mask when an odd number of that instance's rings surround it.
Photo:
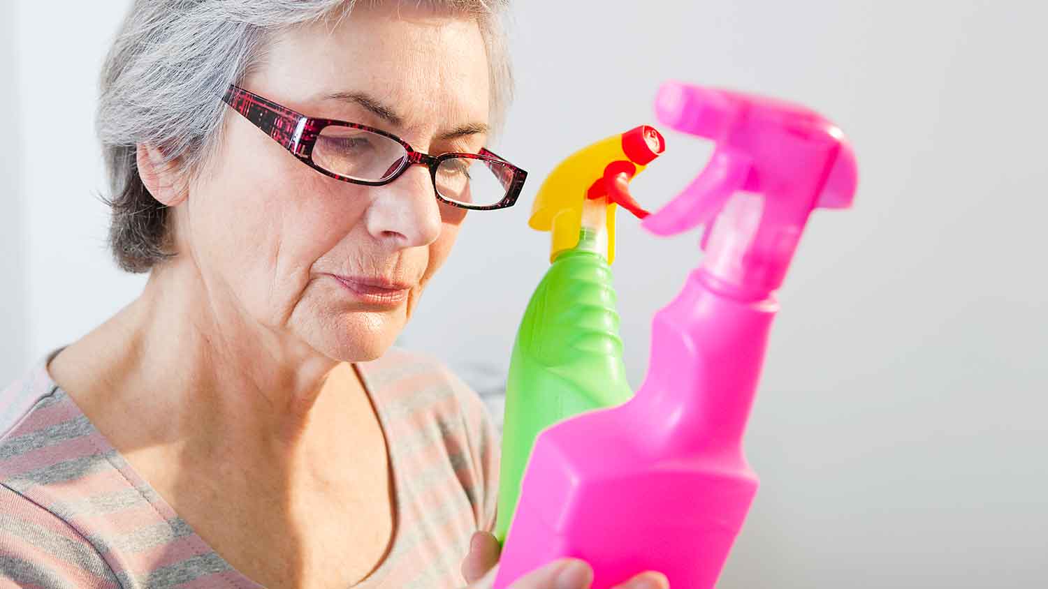
<path fill-rule="evenodd" d="M 539 435 L 496 589 L 563 557 L 593 566 L 593 589 L 645 570 L 711 589 L 757 492 L 742 436 L 774 292 L 811 211 L 851 205 L 855 158 L 834 124 L 779 100 L 670 83 L 656 110 L 717 146 L 643 226 L 704 225 L 705 256 L 654 317 L 637 394 Z"/>

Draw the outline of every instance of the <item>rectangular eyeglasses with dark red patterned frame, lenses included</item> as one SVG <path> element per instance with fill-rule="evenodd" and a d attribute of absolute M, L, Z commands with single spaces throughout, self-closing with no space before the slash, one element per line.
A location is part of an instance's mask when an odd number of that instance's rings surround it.
<path fill-rule="evenodd" d="M 437 199 L 462 208 L 493 210 L 512 206 L 527 178 L 527 172 L 486 149 L 479 154 L 431 156 L 385 131 L 308 117 L 232 84 L 222 100 L 302 163 L 344 182 L 383 186 L 412 165 L 425 165 Z"/>

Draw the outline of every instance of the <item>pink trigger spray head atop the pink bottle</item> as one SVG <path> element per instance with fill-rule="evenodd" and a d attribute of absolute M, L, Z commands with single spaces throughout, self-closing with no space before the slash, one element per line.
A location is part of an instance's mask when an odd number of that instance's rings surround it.
<path fill-rule="evenodd" d="M 811 211 L 851 206 L 855 156 L 840 130 L 810 109 L 671 82 L 659 89 L 655 111 L 662 123 L 717 148 L 698 178 L 642 226 L 672 235 L 704 225 L 703 268 L 722 284 L 774 291 Z M 739 190 L 754 196 L 728 207 Z"/>

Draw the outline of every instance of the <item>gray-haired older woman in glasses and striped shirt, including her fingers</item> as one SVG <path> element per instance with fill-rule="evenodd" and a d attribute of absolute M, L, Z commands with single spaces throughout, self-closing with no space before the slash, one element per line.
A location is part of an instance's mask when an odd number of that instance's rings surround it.
<path fill-rule="evenodd" d="M 485 149 L 503 4 L 133 3 L 97 128 L 149 280 L 0 397 L 0 586 L 490 586 L 496 434 L 391 345 L 524 183 Z"/>

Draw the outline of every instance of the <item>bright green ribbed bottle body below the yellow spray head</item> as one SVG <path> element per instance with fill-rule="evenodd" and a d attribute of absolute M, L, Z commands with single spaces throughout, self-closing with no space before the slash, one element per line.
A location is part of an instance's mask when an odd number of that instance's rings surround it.
<path fill-rule="evenodd" d="M 499 509 L 505 542 L 521 479 L 542 430 L 633 397 L 623 363 L 611 267 L 583 230 L 578 246 L 549 267 L 517 332 L 506 382 Z"/>

